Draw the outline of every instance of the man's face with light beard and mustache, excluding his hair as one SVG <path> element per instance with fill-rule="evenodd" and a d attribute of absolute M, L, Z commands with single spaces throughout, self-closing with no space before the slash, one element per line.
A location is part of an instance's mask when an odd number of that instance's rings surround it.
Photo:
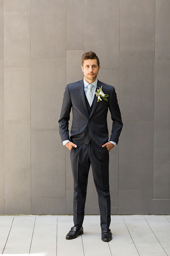
<path fill-rule="evenodd" d="M 96 59 L 87 59 L 84 60 L 84 64 L 81 66 L 81 69 L 84 73 L 85 80 L 89 82 L 89 84 L 92 84 L 97 79 L 100 66 L 97 65 Z"/>

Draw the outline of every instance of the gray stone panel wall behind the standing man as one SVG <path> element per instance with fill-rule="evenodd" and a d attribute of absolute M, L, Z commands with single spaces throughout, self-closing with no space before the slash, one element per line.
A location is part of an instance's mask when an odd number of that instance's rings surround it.
<path fill-rule="evenodd" d="M 169 14 L 169 0 L 0 0 L 0 214 L 72 213 L 58 119 L 89 50 L 124 122 L 112 214 L 170 214 Z M 98 213 L 90 171 L 86 214 Z"/>

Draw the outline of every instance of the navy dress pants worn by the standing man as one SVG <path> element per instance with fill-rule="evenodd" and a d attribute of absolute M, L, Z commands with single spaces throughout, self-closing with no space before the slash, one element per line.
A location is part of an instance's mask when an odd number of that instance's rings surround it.
<path fill-rule="evenodd" d="M 87 179 L 90 165 L 98 194 L 98 204 L 101 217 L 101 228 L 109 228 L 111 223 L 111 198 L 109 192 L 109 152 L 96 151 L 91 142 L 82 144 L 70 151 L 74 180 L 73 213 L 74 225 L 82 226 L 87 193 Z"/>

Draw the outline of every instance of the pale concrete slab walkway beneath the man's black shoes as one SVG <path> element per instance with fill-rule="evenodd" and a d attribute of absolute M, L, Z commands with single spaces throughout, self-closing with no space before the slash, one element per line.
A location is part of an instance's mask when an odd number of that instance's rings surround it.
<path fill-rule="evenodd" d="M 103 242 L 100 216 L 86 215 L 84 234 L 65 236 L 68 215 L 0 216 L 0 254 L 4 256 L 170 256 L 170 215 L 112 216 L 112 241 Z"/>

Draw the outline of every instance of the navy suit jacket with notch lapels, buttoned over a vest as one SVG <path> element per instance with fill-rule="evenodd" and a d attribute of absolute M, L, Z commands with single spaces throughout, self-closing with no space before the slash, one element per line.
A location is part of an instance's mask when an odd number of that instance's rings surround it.
<path fill-rule="evenodd" d="M 93 147 L 98 152 L 106 150 L 102 148 L 102 145 L 108 142 L 107 113 L 109 109 L 113 121 L 110 140 L 118 144 L 123 123 L 121 121 L 115 89 L 111 85 L 98 81 L 97 89 L 101 86 L 103 93 L 109 95 L 107 97 L 108 101 L 102 99 L 102 101 L 97 102 L 95 95 L 94 105 L 90 115 L 87 109 L 83 80 L 66 86 L 61 115 L 58 121 L 62 141 L 70 140 L 80 147 L 87 133 L 89 133 Z M 69 136 L 68 121 L 70 119 L 71 109 L 73 111 L 73 121 Z"/>

